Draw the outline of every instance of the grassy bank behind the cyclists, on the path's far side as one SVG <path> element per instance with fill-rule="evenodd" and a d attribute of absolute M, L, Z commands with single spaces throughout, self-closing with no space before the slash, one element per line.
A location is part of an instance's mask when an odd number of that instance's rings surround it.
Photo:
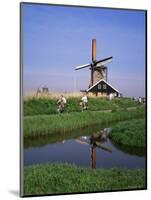
<path fill-rule="evenodd" d="M 80 112 L 79 101 L 81 97 L 67 98 L 67 111 Z M 125 109 L 126 107 L 138 106 L 137 102 L 130 98 L 114 99 L 109 101 L 107 98 L 88 98 L 89 110 L 108 110 L 108 109 Z M 28 98 L 24 100 L 24 115 L 41 115 L 41 114 L 56 114 L 57 113 L 57 98 Z"/>

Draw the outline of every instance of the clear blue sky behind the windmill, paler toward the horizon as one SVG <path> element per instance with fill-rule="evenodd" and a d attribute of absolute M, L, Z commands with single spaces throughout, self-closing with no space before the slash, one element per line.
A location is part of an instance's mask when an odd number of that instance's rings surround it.
<path fill-rule="evenodd" d="M 24 92 L 87 89 L 91 61 L 113 56 L 108 81 L 124 96 L 145 95 L 145 12 L 23 4 Z"/>

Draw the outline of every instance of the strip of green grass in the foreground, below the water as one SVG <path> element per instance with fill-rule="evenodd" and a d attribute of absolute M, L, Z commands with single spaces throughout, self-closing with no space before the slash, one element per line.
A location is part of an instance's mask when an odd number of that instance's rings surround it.
<path fill-rule="evenodd" d="M 69 164 L 24 168 L 24 195 L 145 189 L 144 169 L 91 169 Z"/>

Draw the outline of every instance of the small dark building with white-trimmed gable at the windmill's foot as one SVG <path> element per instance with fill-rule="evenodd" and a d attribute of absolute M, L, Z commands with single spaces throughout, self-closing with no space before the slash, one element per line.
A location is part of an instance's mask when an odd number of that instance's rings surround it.
<path fill-rule="evenodd" d="M 119 96 L 119 91 L 110 85 L 104 79 L 99 80 L 93 86 L 86 90 L 88 96 L 109 96 L 113 94 L 114 97 Z"/>

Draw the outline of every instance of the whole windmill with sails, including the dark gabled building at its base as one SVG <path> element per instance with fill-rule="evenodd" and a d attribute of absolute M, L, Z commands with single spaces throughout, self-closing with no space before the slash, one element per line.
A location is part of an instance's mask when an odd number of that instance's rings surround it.
<path fill-rule="evenodd" d="M 113 93 L 115 96 L 119 94 L 118 90 L 113 88 L 107 82 L 108 70 L 107 64 L 112 62 L 113 57 L 107 57 L 101 60 L 96 60 L 96 39 L 92 40 L 92 62 L 77 66 L 75 69 L 80 70 L 83 68 L 89 68 L 91 71 L 90 84 L 86 92 L 88 94 L 95 94 L 96 96 L 106 96 Z M 106 85 L 106 86 L 105 86 Z M 90 90 L 91 89 L 91 90 Z"/>

